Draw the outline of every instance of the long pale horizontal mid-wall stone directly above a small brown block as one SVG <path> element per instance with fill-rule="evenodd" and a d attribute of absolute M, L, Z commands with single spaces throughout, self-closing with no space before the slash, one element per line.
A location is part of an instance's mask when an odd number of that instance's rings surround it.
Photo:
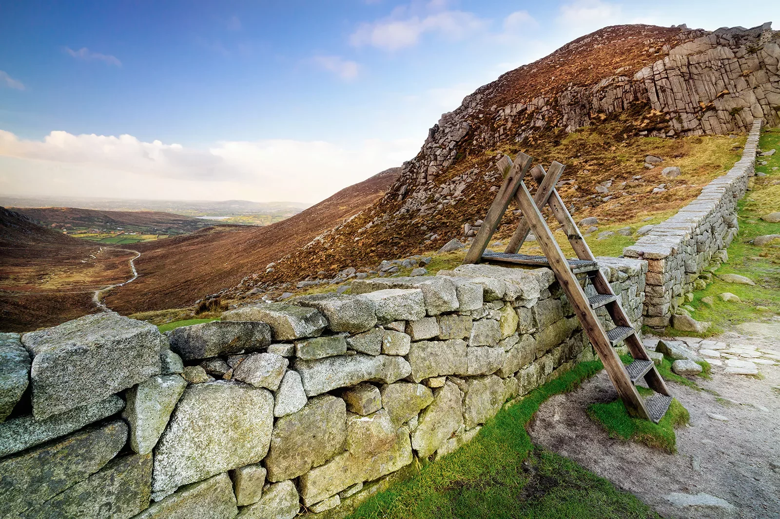
<path fill-rule="evenodd" d="M 393 383 L 412 372 L 403 357 L 360 353 L 313 361 L 296 359 L 293 368 L 300 373 L 303 389 L 309 397 L 360 382 Z"/>

